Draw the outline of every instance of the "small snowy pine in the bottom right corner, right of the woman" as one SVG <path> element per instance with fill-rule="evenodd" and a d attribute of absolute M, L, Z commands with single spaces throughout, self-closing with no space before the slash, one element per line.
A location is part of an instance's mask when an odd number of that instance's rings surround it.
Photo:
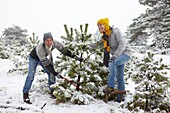
<path fill-rule="evenodd" d="M 140 60 L 133 58 L 134 66 L 130 73 L 136 83 L 133 100 L 127 104 L 129 110 L 137 112 L 139 109 L 152 111 L 153 113 L 170 112 L 170 81 L 166 70 L 168 65 L 162 63 L 162 59 L 155 60 L 154 54 L 148 52 L 147 56 Z"/>

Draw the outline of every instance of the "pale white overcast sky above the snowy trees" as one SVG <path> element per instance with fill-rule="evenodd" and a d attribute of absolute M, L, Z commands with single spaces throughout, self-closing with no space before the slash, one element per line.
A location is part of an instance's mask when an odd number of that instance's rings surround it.
<path fill-rule="evenodd" d="M 138 0 L 0 0 L 0 34 L 14 24 L 27 29 L 28 34 L 42 37 L 51 32 L 58 38 L 65 35 L 64 24 L 79 29 L 85 23 L 89 32 L 95 33 L 96 22 L 105 17 L 124 33 L 145 9 Z"/>

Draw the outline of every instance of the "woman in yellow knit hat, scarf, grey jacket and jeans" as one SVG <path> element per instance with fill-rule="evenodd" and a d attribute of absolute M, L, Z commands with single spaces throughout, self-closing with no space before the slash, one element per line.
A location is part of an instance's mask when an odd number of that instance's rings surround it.
<path fill-rule="evenodd" d="M 119 28 L 109 25 L 108 18 L 102 18 L 97 21 L 99 32 L 102 33 L 102 41 L 104 47 L 103 64 L 108 67 L 109 77 L 108 84 L 104 93 L 115 91 L 115 79 L 118 81 L 118 90 L 125 90 L 124 83 L 124 67 L 131 59 L 132 51 L 125 37 Z M 111 54 L 111 57 L 110 57 Z M 124 95 L 118 94 L 117 102 L 124 101 Z"/>

